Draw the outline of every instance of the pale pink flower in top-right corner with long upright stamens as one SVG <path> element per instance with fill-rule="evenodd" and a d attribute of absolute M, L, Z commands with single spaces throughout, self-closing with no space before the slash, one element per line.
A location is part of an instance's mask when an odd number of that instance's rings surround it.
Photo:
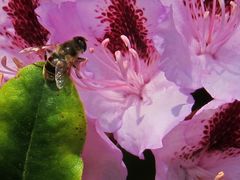
<path fill-rule="evenodd" d="M 240 77 L 240 1 L 162 2 L 171 5 L 172 24 L 176 24 L 171 32 L 160 28 L 167 39 L 163 43 L 167 78 L 183 87 L 205 87 L 214 98 L 240 98 L 236 86 Z"/>

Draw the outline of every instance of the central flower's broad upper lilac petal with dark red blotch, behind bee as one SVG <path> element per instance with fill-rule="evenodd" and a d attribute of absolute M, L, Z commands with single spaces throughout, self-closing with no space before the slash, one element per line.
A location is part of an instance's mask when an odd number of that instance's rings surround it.
<path fill-rule="evenodd" d="M 110 0 L 62 3 L 44 1 L 37 13 L 40 22 L 51 32 L 54 43 L 82 35 L 89 40 L 90 47 L 110 38 L 114 43 L 108 48 L 114 54 L 116 50 L 125 48 L 120 39 L 124 34 L 140 57 L 150 60 L 151 53 L 155 51 L 152 43 L 152 38 L 157 33 L 155 27 L 164 18 L 165 8 L 157 0 L 148 3 L 143 0 L 126 1 L 120 4 L 120 1 Z M 68 26 L 65 26 L 65 22 L 68 22 Z"/>

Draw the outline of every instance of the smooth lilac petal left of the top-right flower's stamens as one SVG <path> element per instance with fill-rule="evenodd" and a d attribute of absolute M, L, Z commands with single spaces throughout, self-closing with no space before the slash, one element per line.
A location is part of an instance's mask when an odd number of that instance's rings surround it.
<path fill-rule="evenodd" d="M 169 7 L 168 20 L 158 25 L 161 34 L 155 40 L 158 51 L 163 51 L 162 69 L 169 80 L 183 88 L 201 88 L 202 60 L 194 52 L 192 24 L 183 1 L 162 0 L 162 3 Z M 158 39 L 162 39 L 160 45 Z"/>

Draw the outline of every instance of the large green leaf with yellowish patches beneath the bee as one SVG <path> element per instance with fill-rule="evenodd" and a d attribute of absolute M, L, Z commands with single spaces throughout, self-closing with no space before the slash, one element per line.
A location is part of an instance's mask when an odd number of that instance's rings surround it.
<path fill-rule="evenodd" d="M 68 77 L 58 90 L 42 66 L 23 68 L 0 88 L 0 179 L 81 179 L 82 104 Z"/>

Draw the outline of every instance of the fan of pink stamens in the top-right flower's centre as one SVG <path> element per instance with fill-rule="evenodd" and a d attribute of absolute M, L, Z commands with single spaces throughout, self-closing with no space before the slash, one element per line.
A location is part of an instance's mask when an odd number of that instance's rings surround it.
<path fill-rule="evenodd" d="M 215 57 L 240 23 L 238 1 L 184 0 L 189 14 L 193 36 L 198 43 L 197 54 L 207 53 Z"/>

